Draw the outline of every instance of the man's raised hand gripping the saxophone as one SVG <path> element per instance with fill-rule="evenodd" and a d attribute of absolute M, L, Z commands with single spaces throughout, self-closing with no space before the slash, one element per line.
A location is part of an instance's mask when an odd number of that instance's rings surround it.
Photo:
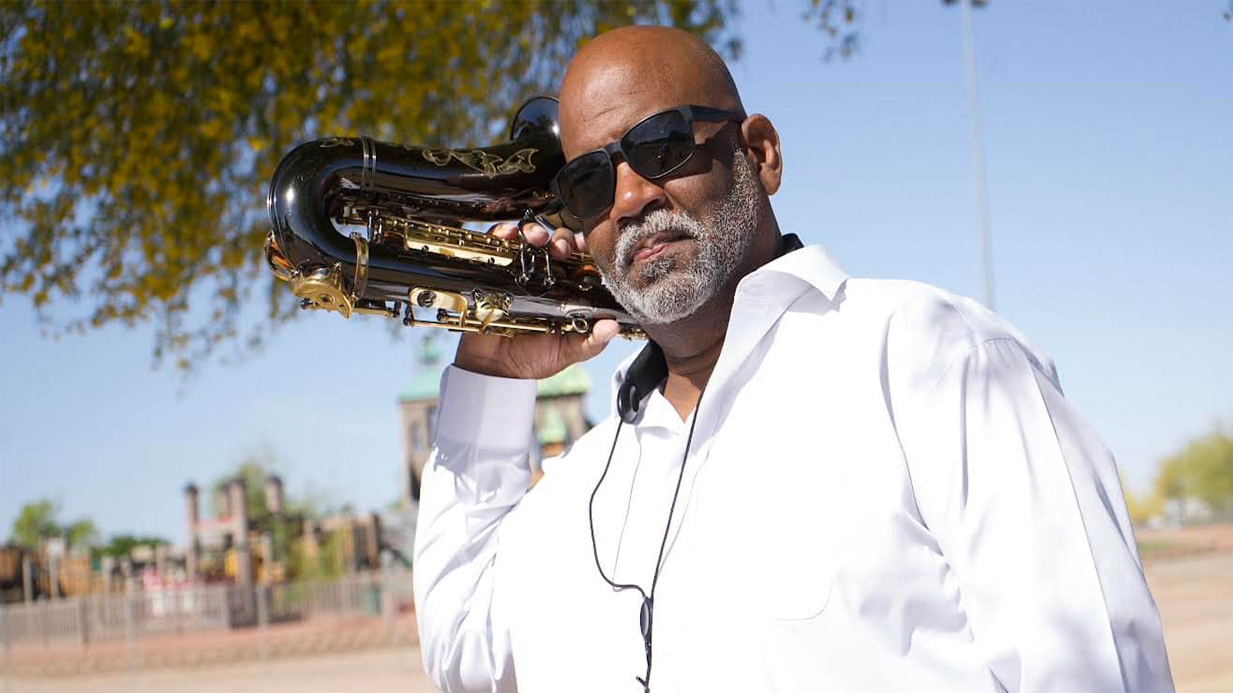
<path fill-rule="evenodd" d="M 518 225 L 497 224 L 488 233 L 510 240 L 518 238 Z M 523 238 L 536 247 L 547 244 L 552 260 L 565 260 L 576 250 L 587 249 L 582 235 L 575 236 L 570 229 L 557 229 L 550 234 L 538 224 L 524 224 Z M 602 352 L 619 330 L 615 320 L 597 320 L 586 335 L 525 335 L 510 338 L 469 332 L 459 340 L 454 364 L 473 373 L 502 378 L 547 378 L 571 363 Z"/>

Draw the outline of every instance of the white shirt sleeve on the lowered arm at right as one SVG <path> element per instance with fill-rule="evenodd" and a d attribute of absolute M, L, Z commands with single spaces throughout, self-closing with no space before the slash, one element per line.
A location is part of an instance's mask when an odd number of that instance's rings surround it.
<path fill-rule="evenodd" d="M 1117 467 L 1054 378 L 994 338 L 917 398 L 921 517 L 1007 691 L 1173 691 Z"/>

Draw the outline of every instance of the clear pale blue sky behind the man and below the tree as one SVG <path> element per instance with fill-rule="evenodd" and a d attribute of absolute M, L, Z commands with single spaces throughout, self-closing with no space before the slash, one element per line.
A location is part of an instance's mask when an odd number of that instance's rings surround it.
<path fill-rule="evenodd" d="M 746 107 L 779 128 L 780 226 L 852 274 L 979 298 L 958 7 L 866 7 L 862 52 L 824 63 L 803 5 L 742 5 L 732 73 Z M 995 0 L 975 14 L 997 310 L 1053 356 L 1132 487 L 1189 437 L 1233 422 L 1227 9 Z M 382 507 L 397 497 L 396 400 L 422 336 L 305 315 L 263 353 L 185 385 L 150 368 L 149 329 L 51 341 L 7 295 L 0 535 L 23 501 L 49 496 L 105 533 L 180 542 L 184 484 L 250 453 L 274 455 L 291 494 Z M 596 416 L 631 348 L 587 364 Z"/>

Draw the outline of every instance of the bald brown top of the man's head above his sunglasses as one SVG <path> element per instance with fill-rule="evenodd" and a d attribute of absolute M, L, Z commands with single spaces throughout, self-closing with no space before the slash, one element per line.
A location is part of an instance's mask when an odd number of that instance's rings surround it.
<path fill-rule="evenodd" d="M 724 59 L 702 38 L 660 26 L 628 26 L 592 39 L 570 62 L 560 96 L 566 158 L 673 106 L 745 112 Z"/>

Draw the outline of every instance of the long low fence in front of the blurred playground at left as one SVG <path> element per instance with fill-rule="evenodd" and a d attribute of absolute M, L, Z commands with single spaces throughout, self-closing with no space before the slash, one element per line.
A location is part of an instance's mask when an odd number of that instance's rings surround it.
<path fill-rule="evenodd" d="M 313 618 L 385 615 L 411 603 L 409 571 L 284 585 L 208 585 L 94 595 L 0 607 L 0 645 L 58 646 L 259 627 Z"/>

